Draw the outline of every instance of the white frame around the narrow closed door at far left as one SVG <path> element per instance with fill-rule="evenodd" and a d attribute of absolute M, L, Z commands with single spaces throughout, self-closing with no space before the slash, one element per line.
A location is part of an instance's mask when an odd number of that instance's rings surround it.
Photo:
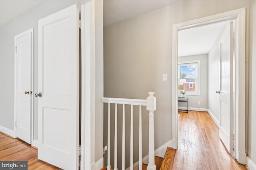
<path fill-rule="evenodd" d="M 34 28 L 30 28 L 27 31 L 24 31 L 18 35 L 14 36 L 14 134 L 13 137 L 17 138 L 17 127 L 16 127 L 16 121 L 17 121 L 17 112 L 16 112 L 16 81 L 17 81 L 17 74 L 16 74 L 16 68 L 17 68 L 17 53 L 16 53 L 16 47 L 17 47 L 17 39 L 30 33 L 31 34 L 31 49 L 32 49 L 32 59 L 31 59 L 31 91 L 32 94 L 34 93 Z M 30 108 L 30 113 L 31 113 L 31 145 L 33 146 L 34 142 L 34 97 L 33 95 L 30 95 L 31 97 L 31 108 Z"/>

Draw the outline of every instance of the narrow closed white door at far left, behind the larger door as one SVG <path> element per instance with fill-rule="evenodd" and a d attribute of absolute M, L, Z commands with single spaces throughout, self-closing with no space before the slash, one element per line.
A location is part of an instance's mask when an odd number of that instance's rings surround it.
<path fill-rule="evenodd" d="M 31 144 L 33 29 L 14 37 L 16 64 L 16 137 Z"/>

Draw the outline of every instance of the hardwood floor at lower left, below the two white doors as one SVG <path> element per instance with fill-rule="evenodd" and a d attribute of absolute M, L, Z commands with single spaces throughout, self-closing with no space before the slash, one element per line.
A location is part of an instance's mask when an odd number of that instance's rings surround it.
<path fill-rule="evenodd" d="M 60 170 L 37 158 L 37 149 L 20 139 L 10 138 L 0 133 L 1 161 L 28 161 L 28 170 Z"/>

